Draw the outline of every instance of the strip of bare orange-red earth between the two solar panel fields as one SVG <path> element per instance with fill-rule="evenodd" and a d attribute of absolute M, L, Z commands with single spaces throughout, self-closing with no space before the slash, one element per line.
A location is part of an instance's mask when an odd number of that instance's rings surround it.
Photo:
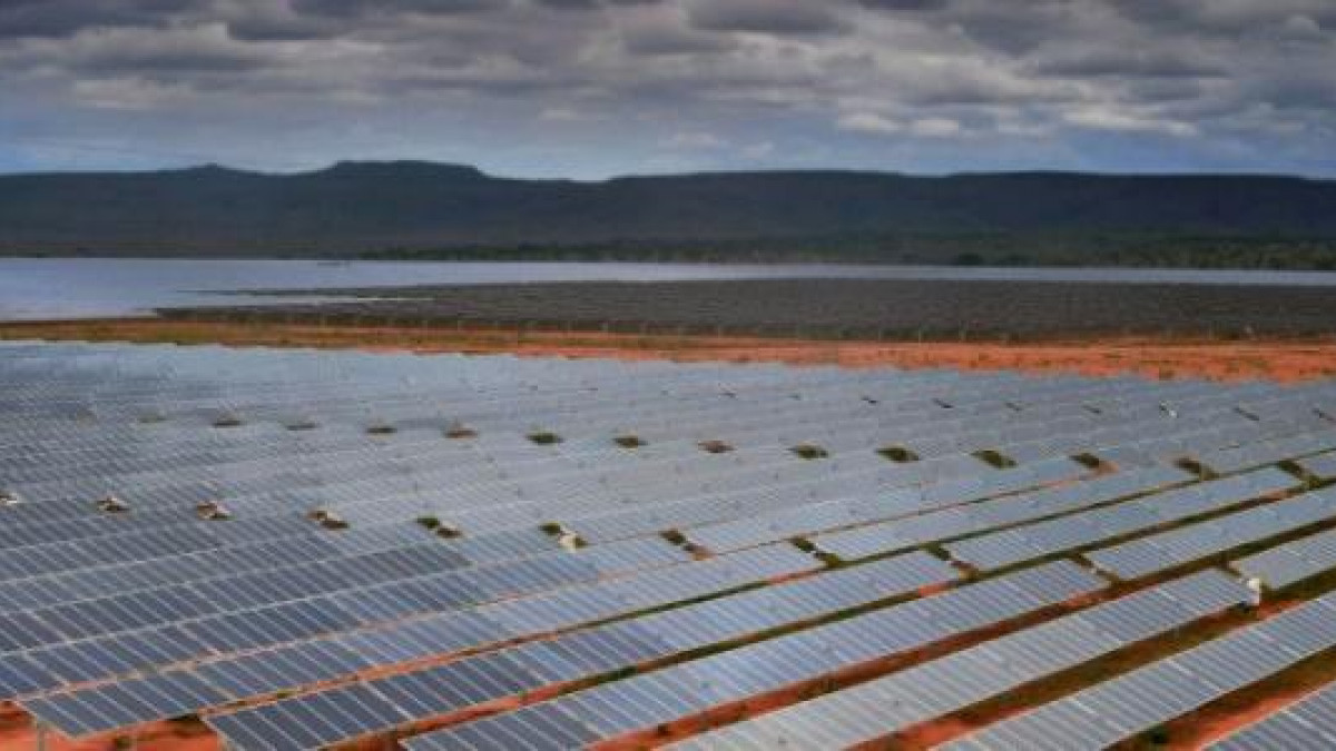
<path fill-rule="evenodd" d="M 366 351 L 518 354 L 525 357 L 784 362 L 799 366 L 949 367 L 1154 380 L 1256 378 L 1300 382 L 1336 377 L 1336 337 L 1209 339 L 1082 337 L 1045 342 L 822 341 L 707 334 L 534 331 L 159 318 L 0 322 L 0 339 L 357 349 Z"/>

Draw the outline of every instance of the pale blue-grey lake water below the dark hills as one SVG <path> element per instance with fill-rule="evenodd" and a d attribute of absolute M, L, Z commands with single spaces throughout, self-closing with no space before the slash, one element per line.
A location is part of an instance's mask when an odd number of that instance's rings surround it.
<path fill-rule="evenodd" d="M 1160 269 L 994 269 L 846 265 L 689 263 L 410 263 L 0 258 L 0 319 L 40 321 L 151 315 L 155 307 L 236 305 L 236 290 L 393 287 L 569 281 L 767 278 L 990 279 L 1202 285 L 1336 286 L 1336 273 L 1189 271 Z M 327 299 L 327 298 L 306 298 Z M 266 298 L 246 298 L 263 303 Z M 293 302 L 293 298 L 283 298 Z"/>

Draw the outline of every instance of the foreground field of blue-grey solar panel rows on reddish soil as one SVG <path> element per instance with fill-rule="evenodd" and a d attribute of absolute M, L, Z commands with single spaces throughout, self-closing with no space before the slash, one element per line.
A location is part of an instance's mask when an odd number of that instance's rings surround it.
<path fill-rule="evenodd" d="M 4 748 L 1336 747 L 1336 382 L 16 342 L 0 416 Z"/>

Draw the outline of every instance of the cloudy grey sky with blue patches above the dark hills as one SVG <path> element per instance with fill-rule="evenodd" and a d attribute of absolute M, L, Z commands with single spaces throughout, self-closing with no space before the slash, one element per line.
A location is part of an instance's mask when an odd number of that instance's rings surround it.
<path fill-rule="evenodd" d="M 1336 0 L 0 0 L 0 172 L 1336 176 Z"/>

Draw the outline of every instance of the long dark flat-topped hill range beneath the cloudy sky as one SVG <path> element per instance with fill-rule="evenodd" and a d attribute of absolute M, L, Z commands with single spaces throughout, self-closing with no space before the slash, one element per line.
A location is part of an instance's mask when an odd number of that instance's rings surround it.
<path fill-rule="evenodd" d="M 794 171 L 582 183 L 420 162 L 11 175 L 0 253 L 1325 267 L 1336 182 Z"/>

